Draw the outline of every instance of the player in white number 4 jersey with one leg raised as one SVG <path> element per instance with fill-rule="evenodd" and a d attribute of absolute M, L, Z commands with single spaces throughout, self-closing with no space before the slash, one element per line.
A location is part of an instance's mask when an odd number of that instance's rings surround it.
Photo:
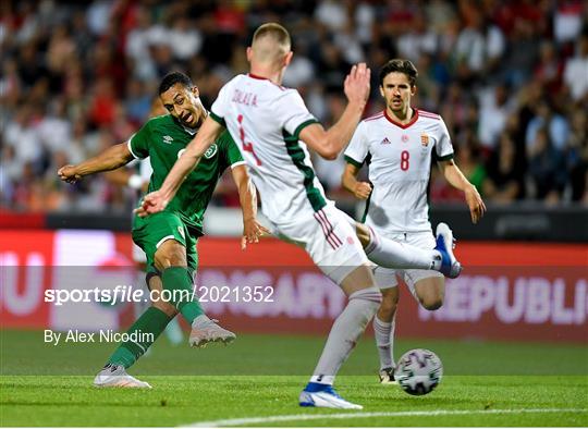
<path fill-rule="evenodd" d="M 334 159 L 344 148 L 362 119 L 369 96 L 370 71 L 363 63 L 352 68 L 344 83 L 347 106 L 339 121 L 326 131 L 308 112 L 298 91 L 280 85 L 292 60 L 290 47 L 290 35 L 279 24 L 264 24 L 255 32 L 247 48 L 250 72 L 235 76 L 221 88 L 198 135 L 160 189 L 145 197 L 138 212 L 147 216 L 161 211 L 215 136 L 226 127 L 247 162 L 273 233 L 304 247 L 348 297 L 310 382 L 301 393 L 299 404 L 362 408 L 339 396 L 332 383 L 381 302 L 366 253 L 384 266 L 434 268 L 450 277 L 456 277 L 461 267 L 451 250 L 453 238 L 449 229 L 437 249 L 422 250 L 378 237 L 364 225 L 356 231 L 355 221 L 324 198 L 307 146 L 327 159 Z"/>

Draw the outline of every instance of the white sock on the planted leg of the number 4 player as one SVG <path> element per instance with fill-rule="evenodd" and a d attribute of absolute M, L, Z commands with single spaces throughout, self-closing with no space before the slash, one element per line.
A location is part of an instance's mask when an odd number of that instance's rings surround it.
<path fill-rule="evenodd" d="M 380 307 L 382 294 L 376 286 L 350 295 L 350 302 L 336 318 L 322 350 L 311 382 L 332 384 L 341 365 Z"/>

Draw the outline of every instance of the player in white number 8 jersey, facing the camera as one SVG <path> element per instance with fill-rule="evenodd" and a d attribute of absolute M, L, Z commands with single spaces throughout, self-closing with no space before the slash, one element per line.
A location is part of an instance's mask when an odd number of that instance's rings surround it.
<path fill-rule="evenodd" d="M 486 206 L 453 161 L 451 138 L 441 117 L 411 107 L 417 75 L 408 60 L 394 59 L 381 69 L 380 94 L 385 109 L 357 126 L 345 150 L 347 164 L 342 182 L 357 198 L 367 199 L 363 222 L 383 236 L 430 249 L 436 246 L 427 203 L 432 161 L 451 185 L 464 192 L 474 223 Z M 364 163 L 369 166 L 370 183 L 357 181 Z M 432 270 L 383 267 L 376 268 L 375 277 L 383 297 L 373 318 L 380 382 L 393 383 L 396 277 L 428 310 L 443 304 L 445 279 Z"/>

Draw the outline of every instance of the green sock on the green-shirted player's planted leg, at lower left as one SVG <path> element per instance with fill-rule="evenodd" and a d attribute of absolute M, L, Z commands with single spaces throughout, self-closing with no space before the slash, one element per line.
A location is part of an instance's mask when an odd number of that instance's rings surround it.
<path fill-rule="evenodd" d="M 168 316 L 159 308 L 147 308 L 128 331 L 126 331 L 127 334 L 132 335 L 130 340 L 119 345 L 119 348 L 110 356 L 108 363 L 128 368 L 147 352 L 147 348 L 166 330 L 166 327 L 172 319 L 173 317 Z"/>

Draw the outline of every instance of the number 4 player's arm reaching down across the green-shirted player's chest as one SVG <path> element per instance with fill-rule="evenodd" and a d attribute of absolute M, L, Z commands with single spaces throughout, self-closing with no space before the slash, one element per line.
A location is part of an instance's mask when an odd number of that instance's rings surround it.
<path fill-rule="evenodd" d="M 186 176 L 196 168 L 200 158 L 212 143 L 219 137 L 224 127 L 208 117 L 196 137 L 186 146 L 186 150 L 175 161 L 161 187 L 147 194 L 143 206 L 136 209 L 142 218 L 162 211 L 177 193 Z"/>

